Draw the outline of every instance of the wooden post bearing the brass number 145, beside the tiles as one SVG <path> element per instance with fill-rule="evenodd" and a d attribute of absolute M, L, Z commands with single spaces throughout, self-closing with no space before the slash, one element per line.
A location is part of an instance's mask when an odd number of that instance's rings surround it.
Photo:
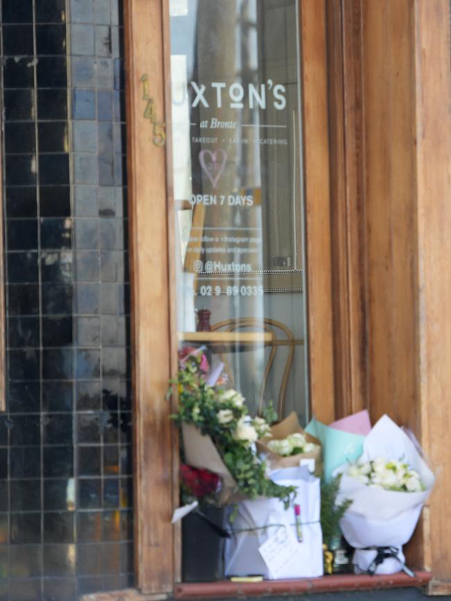
<path fill-rule="evenodd" d="M 164 40 L 167 10 L 162 0 L 126 0 L 125 5 L 135 571 L 141 591 L 166 593 L 173 589 L 176 569 L 171 525 L 176 448 L 169 419 L 171 405 L 165 398 L 174 364 L 171 319 L 175 314 L 171 311 L 175 299 L 169 260 L 173 231 L 168 209 L 169 152 L 161 124 L 167 121 L 169 97 Z"/>

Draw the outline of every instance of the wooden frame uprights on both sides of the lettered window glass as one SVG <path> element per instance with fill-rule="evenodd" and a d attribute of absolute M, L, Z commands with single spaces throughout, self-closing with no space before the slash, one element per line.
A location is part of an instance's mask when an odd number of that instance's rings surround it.
<path fill-rule="evenodd" d="M 334 418 L 332 252 L 325 0 L 300 0 L 305 137 L 309 382 L 312 410 Z M 171 182 L 168 0 L 126 0 L 128 202 L 132 295 L 135 569 L 143 593 L 171 593 L 180 577 L 178 445 L 165 400 L 176 370 L 175 214 Z M 142 76 L 166 147 L 153 143 Z M 309 140 L 314 143 L 309 144 Z M 167 174 L 169 173 L 169 176 Z"/>

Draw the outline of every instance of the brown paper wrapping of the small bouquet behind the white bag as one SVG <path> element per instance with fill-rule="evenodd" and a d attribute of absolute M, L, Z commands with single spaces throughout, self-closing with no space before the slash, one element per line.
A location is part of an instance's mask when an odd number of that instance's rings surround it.
<path fill-rule="evenodd" d="M 291 455 L 290 457 L 282 457 L 282 455 L 277 455 L 276 453 L 271 452 L 269 450 L 267 444 L 271 440 L 282 440 L 287 438 L 289 434 L 294 434 L 295 432 L 299 432 L 300 434 L 304 434 L 305 440 L 307 442 L 312 442 L 318 445 L 318 448 L 308 453 L 299 453 L 298 455 Z M 303 428 L 299 425 L 298 416 L 295 412 L 289 414 L 287 418 L 285 418 L 280 423 L 273 425 L 271 427 L 271 438 L 260 439 L 257 441 L 257 449 L 259 452 L 262 452 L 266 455 L 266 462 L 272 470 L 277 470 L 279 468 L 292 468 L 297 467 L 300 464 L 301 459 L 314 459 L 315 460 L 315 475 L 321 477 L 323 473 L 323 461 L 321 458 L 321 442 L 312 436 L 311 434 L 307 434 L 304 432 Z"/>

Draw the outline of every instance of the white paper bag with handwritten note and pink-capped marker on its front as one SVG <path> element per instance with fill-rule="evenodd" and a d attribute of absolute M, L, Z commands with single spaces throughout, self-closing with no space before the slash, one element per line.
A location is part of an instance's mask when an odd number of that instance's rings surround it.
<path fill-rule="evenodd" d="M 270 475 L 284 486 L 296 486 L 289 509 L 275 498 L 241 501 L 226 541 L 226 576 L 262 575 L 268 579 L 305 578 L 323 575 L 323 537 L 320 516 L 320 482 L 305 467 L 283 468 Z M 294 505 L 300 505 L 303 541 L 297 540 Z M 277 537 L 289 545 L 284 561 L 266 564 L 259 548 Z M 273 542 L 281 545 L 279 541 Z M 280 550 L 280 552 L 282 552 Z M 264 554 L 265 555 L 265 554 Z M 269 561 L 270 554 L 265 555 Z"/>

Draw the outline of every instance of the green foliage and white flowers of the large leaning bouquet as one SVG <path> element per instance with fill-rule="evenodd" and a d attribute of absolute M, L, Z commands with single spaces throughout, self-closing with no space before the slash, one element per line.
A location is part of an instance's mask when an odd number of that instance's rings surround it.
<path fill-rule="evenodd" d="M 288 507 L 296 489 L 269 480 L 266 464 L 255 457 L 251 447 L 255 438 L 267 434 L 268 423 L 247 415 L 244 398 L 238 392 L 209 386 L 199 364 L 200 358 L 190 358 L 171 382 L 178 389 L 178 412 L 172 418 L 178 425 L 195 425 L 211 437 L 238 491 L 250 499 L 277 497 Z M 273 417 L 271 411 L 267 415 Z"/>

